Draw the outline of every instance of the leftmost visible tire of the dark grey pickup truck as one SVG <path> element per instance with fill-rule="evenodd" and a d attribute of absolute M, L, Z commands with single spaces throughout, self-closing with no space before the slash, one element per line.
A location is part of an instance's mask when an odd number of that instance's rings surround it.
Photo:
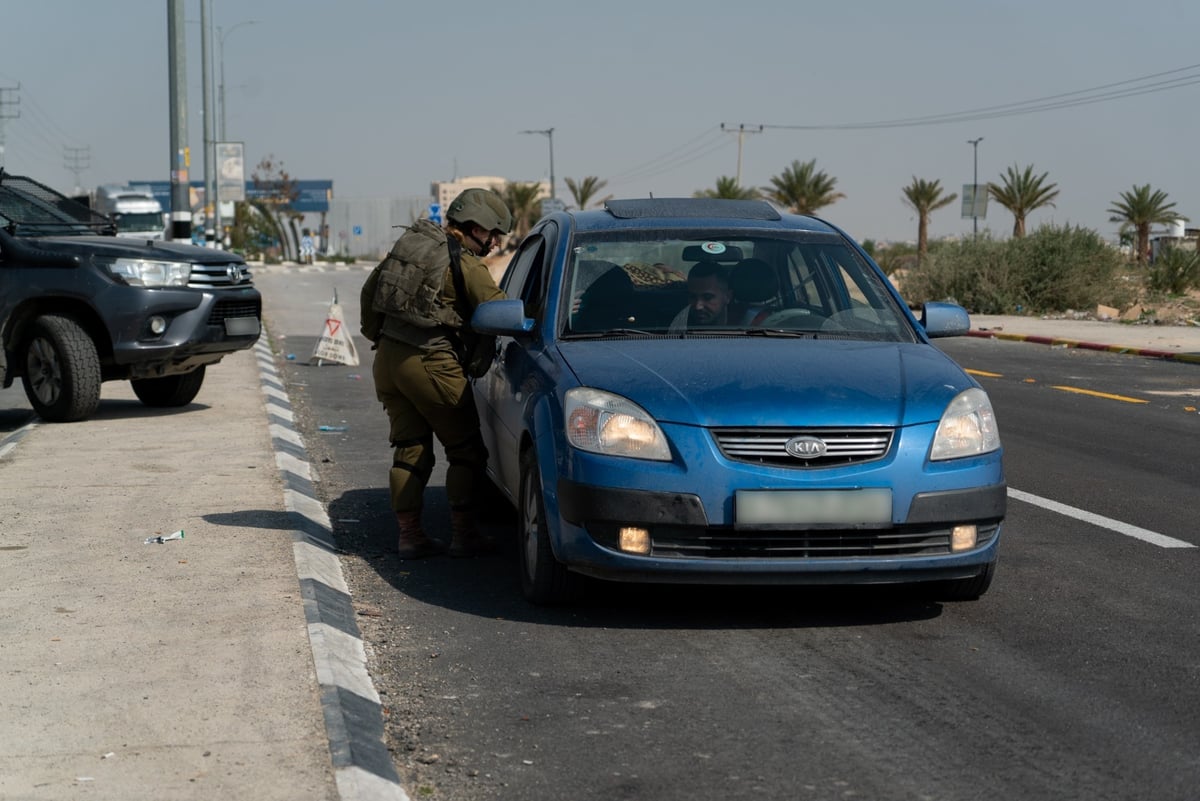
<path fill-rule="evenodd" d="M 100 405 L 100 356 L 88 332 L 68 317 L 34 320 L 22 349 L 22 383 L 37 415 L 52 423 L 89 417 Z"/>

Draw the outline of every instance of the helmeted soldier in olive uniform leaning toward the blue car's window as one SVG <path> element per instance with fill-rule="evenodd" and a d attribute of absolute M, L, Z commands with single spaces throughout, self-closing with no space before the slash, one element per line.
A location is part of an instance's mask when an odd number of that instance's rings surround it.
<path fill-rule="evenodd" d="M 388 483 L 401 559 L 443 549 L 421 529 L 433 435 L 449 462 L 449 554 L 472 556 L 493 547 L 473 508 L 479 482 L 487 481 L 487 448 L 467 375 L 480 341 L 470 315 L 480 303 L 504 297 L 481 257 L 511 230 L 512 215 L 498 194 L 466 189 L 446 210 L 445 229 L 427 219 L 414 223 L 364 284 L 362 332 L 378 348 L 376 396 L 388 411 L 395 448 Z"/>

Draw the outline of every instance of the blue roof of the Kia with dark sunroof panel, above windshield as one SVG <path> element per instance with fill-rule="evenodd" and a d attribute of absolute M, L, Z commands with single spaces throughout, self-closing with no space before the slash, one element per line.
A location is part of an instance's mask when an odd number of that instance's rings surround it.
<path fill-rule="evenodd" d="M 838 234 L 816 217 L 780 212 L 766 200 L 725 198 L 632 198 L 607 200 L 604 209 L 559 212 L 576 233 L 629 228 L 756 228 Z"/>

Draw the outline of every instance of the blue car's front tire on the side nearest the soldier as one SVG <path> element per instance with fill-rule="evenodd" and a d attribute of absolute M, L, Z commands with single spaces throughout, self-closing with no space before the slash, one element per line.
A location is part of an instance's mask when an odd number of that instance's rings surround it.
<path fill-rule="evenodd" d="M 526 600 L 541 606 L 577 600 L 582 578 L 558 561 L 550 544 L 546 502 L 541 495 L 538 458 L 533 448 L 521 454 L 521 499 L 517 514 L 517 559 L 521 562 L 521 591 Z"/>

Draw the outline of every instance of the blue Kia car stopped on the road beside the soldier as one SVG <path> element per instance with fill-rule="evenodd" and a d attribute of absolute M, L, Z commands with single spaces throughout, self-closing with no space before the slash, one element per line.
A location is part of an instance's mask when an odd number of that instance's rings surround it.
<path fill-rule="evenodd" d="M 610 200 L 522 240 L 472 326 L 522 588 L 992 580 L 1007 487 L 988 396 L 844 231 L 756 200 Z"/>

